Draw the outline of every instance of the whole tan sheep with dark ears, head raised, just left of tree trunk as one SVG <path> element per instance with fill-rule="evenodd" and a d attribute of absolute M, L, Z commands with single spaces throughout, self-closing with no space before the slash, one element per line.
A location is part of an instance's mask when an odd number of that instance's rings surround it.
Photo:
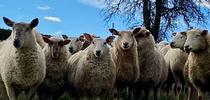
<path fill-rule="evenodd" d="M 119 98 L 122 97 L 122 91 L 134 84 L 139 77 L 137 42 L 132 31 L 109 31 L 118 36 L 112 43 L 111 55 L 117 68 L 116 88 Z"/>

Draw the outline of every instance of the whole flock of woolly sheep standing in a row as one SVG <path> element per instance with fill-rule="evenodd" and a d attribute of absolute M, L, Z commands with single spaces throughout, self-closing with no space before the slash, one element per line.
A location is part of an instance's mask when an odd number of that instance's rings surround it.
<path fill-rule="evenodd" d="M 148 100 L 151 91 L 204 99 L 210 91 L 210 48 L 207 30 L 173 33 L 170 44 L 155 44 L 144 27 L 109 29 L 106 39 L 84 33 L 80 37 L 42 36 L 30 23 L 16 23 L 0 42 L 0 98 L 17 100 L 21 92 L 31 100 L 57 100 L 65 92 L 73 99 Z M 117 38 L 115 39 L 115 36 Z M 196 93 L 196 95 L 193 95 Z"/>

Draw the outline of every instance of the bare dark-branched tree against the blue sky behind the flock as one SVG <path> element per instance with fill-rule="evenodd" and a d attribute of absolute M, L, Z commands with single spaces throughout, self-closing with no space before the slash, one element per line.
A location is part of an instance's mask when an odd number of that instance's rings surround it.
<path fill-rule="evenodd" d="M 104 3 L 105 22 L 121 15 L 132 27 L 144 25 L 156 42 L 166 38 L 167 31 L 175 29 L 180 20 L 193 27 L 193 23 L 204 23 L 207 17 L 204 12 L 209 12 L 197 0 L 105 0 Z"/>

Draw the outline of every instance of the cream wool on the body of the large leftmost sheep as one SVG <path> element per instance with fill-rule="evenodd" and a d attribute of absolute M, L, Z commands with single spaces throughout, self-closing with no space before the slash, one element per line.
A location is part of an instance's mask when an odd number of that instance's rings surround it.
<path fill-rule="evenodd" d="M 13 40 L 14 38 L 6 40 L 0 50 L 2 80 L 6 87 L 12 86 L 16 91 L 36 87 L 45 77 L 44 52 L 35 41 L 35 36 L 31 39 L 32 45 L 29 48 L 16 49 Z"/>

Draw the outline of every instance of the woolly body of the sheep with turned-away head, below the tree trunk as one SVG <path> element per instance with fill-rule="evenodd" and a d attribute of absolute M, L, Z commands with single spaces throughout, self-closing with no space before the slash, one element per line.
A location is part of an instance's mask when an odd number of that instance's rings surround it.
<path fill-rule="evenodd" d="M 137 40 L 138 41 L 138 40 Z M 138 59 L 140 73 L 137 84 L 142 88 L 153 88 L 167 79 L 168 69 L 165 60 L 160 52 L 155 48 L 152 35 L 138 45 Z"/>

